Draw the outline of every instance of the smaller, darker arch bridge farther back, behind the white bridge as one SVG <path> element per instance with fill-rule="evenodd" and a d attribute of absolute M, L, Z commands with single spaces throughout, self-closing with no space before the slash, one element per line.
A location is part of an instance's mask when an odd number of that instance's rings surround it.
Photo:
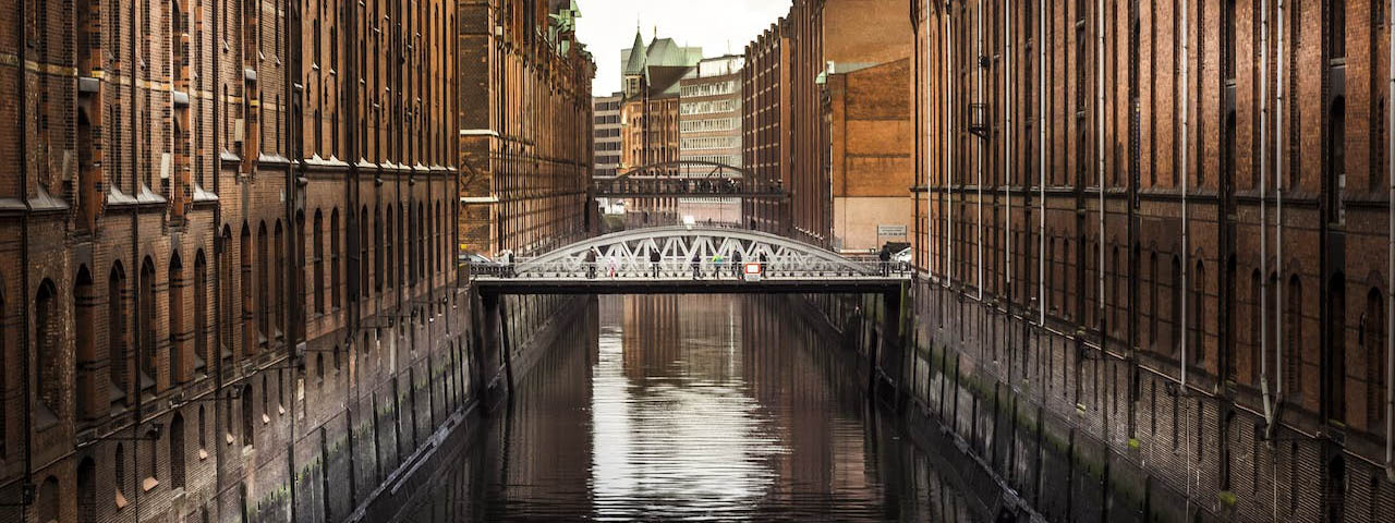
<path fill-rule="evenodd" d="M 600 198 L 778 198 L 784 188 L 753 172 L 702 160 L 660 162 L 591 179 Z"/>

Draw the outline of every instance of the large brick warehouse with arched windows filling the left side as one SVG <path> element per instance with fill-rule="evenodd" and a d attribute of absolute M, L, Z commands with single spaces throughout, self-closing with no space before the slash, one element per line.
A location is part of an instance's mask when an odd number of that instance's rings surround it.
<path fill-rule="evenodd" d="M 466 400 L 456 6 L 4 10 L 0 520 L 349 517 Z"/>

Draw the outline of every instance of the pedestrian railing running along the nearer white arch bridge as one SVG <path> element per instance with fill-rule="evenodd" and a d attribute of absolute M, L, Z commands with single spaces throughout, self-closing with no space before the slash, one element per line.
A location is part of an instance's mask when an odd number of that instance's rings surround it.
<path fill-rule="evenodd" d="M 472 266 L 472 278 L 526 278 L 526 279 L 744 279 L 745 272 L 756 271 L 753 278 L 780 280 L 817 279 L 886 279 L 911 278 L 911 266 L 904 262 L 883 262 L 877 258 L 852 258 L 845 264 L 766 261 L 735 264 L 730 259 L 700 259 L 665 257 L 657 262 L 601 259 L 596 262 L 534 262 L 531 258 L 518 258 L 513 264 L 490 264 Z"/>

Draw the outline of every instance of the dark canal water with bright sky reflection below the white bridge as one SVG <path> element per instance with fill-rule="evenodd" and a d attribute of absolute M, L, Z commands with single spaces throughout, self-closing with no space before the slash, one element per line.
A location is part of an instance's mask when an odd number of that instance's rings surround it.
<path fill-rule="evenodd" d="M 788 308 L 598 298 L 403 520 L 974 520 Z"/>

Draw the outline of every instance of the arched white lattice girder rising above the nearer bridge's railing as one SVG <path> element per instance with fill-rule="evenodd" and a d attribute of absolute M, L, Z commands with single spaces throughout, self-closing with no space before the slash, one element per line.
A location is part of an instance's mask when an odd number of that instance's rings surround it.
<path fill-rule="evenodd" d="M 650 254 L 658 252 L 664 271 L 682 271 L 698 257 L 755 262 L 764 257 L 774 271 L 797 273 L 875 275 L 876 265 L 844 258 L 836 252 L 785 238 L 783 236 L 728 227 L 647 227 L 605 234 L 579 241 L 531 259 L 520 259 L 519 276 L 551 272 L 578 272 L 594 264 L 614 264 L 619 272 L 651 269 Z M 590 259 L 587 254 L 591 254 Z"/>

